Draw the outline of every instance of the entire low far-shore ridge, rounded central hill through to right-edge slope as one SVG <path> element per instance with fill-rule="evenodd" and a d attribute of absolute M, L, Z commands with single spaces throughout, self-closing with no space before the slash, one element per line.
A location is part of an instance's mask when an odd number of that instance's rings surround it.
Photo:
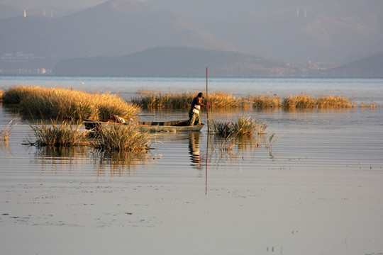
<path fill-rule="evenodd" d="M 383 53 L 335 68 L 296 66 L 242 52 L 191 47 L 155 47 L 122 57 L 61 60 L 53 73 L 72 76 L 203 77 L 360 77 L 383 78 Z"/>

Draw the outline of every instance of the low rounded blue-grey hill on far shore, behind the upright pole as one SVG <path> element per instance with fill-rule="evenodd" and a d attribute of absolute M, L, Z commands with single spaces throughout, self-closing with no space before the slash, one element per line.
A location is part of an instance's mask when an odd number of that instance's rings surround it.
<path fill-rule="evenodd" d="M 283 62 L 240 52 L 191 47 L 156 47 L 124 57 L 85 57 L 62 60 L 54 74 L 79 76 L 288 77 L 300 75 Z"/>

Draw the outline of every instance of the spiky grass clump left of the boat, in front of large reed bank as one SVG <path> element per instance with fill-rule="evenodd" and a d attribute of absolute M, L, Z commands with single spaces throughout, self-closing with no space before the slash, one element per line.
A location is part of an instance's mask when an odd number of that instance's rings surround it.
<path fill-rule="evenodd" d="M 70 121 L 58 122 L 51 120 L 47 125 L 41 121 L 40 125 L 30 125 L 35 139 L 27 138 L 28 145 L 37 147 L 74 147 L 89 145 L 87 134 L 89 131 L 79 130 L 79 125 L 73 125 Z"/>

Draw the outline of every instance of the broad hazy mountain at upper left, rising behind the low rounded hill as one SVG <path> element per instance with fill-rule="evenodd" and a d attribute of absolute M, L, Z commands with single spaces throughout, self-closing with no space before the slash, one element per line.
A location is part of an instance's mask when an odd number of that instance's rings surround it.
<path fill-rule="evenodd" d="M 48 69 L 65 58 L 121 56 L 161 45 L 238 50 L 186 18 L 133 0 L 106 1 L 62 18 L 4 19 L 0 35 L 1 54 L 33 55 Z M 1 60 L 0 69 L 15 61 Z M 28 68 L 28 61 L 20 63 Z"/>

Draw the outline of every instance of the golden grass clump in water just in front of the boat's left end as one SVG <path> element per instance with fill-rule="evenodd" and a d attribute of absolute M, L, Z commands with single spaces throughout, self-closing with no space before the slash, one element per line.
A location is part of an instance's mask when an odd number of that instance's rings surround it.
<path fill-rule="evenodd" d="M 145 152 L 152 143 L 148 133 L 139 132 L 128 125 L 112 125 L 99 130 L 94 147 L 118 152 Z"/>

